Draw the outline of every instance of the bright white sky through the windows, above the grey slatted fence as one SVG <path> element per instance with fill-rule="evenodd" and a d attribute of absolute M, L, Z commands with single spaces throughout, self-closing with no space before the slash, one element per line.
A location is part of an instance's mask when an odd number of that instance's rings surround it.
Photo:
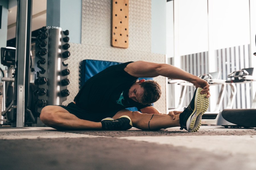
<path fill-rule="evenodd" d="M 250 43 L 249 1 L 174 0 L 174 3 L 166 5 L 167 18 L 170 16 L 166 22 L 169 57 L 174 56 L 169 40 L 174 39 L 170 29 L 173 22 L 177 24 L 174 36 L 178 39 L 174 50 L 178 50 L 179 56 L 208 51 L 209 43 L 214 50 Z M 172 20 L 173 11 L 177 11 L 174 16 L 177 21 Z"/>

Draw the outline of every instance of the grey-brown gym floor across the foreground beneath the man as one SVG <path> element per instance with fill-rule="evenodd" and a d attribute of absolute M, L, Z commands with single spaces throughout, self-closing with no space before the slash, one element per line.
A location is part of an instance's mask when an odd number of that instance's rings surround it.
<path fill-rule="evenodd" d="M 256 169 L 256 128 L 188 133 L 0 127 L 0 169 Z"/>

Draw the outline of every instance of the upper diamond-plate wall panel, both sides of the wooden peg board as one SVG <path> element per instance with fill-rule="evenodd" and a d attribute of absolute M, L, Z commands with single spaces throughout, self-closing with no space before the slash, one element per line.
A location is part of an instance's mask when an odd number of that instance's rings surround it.
<path fill-rule="evenodd" d="M 110 38 L 111 0 L 83 0 L 81 43 L 110 47 Z M 151 52 L 151 1 L 129 1 L 129 50 Z"/>

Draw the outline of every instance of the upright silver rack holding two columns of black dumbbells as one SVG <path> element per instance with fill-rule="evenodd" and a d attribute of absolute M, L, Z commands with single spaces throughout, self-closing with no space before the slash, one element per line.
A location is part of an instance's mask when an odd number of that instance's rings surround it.
<path fill-rule="evenodd" d="M 36 41 L 36 57 L 39 59 L 36 73 L 36 112 L 40 114 L 46 105 L 61 105 L 67 100 L 70 71 L 65 60 L 70 56 L 68 51 L 69 31 L 60 27 L 42 27 Z"/>

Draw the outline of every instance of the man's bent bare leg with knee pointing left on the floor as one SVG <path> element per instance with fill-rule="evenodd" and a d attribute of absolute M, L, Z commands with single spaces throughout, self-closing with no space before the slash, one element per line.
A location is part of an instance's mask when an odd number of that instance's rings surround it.
<path fill-rule="evenodd" d="M 102 129 L 101 122 L 79 119 L 60 106 L 46 106 L 40 114 L 41 121 L 51 128 L 64 129 Z"/>

